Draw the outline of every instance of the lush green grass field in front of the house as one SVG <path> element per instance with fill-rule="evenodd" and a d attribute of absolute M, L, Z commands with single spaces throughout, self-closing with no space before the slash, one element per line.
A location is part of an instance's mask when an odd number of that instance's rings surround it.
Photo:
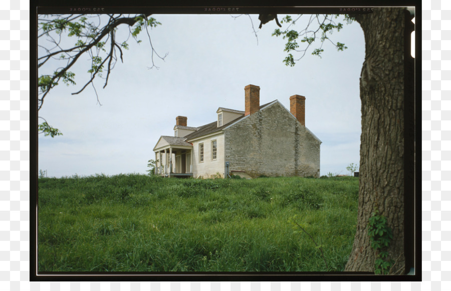
<path fill-rule="evenodd" d="M 38 271 L 342 271 L 357 221 L 354 177 L 96 175 L 38 189 Z"/>

